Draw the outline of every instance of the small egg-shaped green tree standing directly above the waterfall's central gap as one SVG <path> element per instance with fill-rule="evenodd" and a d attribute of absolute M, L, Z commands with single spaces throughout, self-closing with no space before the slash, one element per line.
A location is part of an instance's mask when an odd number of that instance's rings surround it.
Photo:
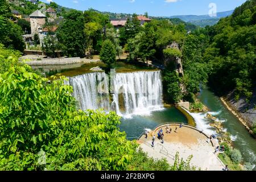
<path fill-rule="evenodd" d="M 100 59 L 103 63 L 110 65 L 115 63 L 116 57 L 117 55 L 114 44 L 110 40 L 105 40 L 102 44 Z"/>

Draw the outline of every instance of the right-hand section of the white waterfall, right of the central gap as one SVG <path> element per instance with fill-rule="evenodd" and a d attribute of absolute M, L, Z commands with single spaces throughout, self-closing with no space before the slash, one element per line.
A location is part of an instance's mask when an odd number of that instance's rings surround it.
<path fill-rule="evenodd" d="M 148 114 L 162 108 L 160 71 L 116 73 L 112 92 L 112 105 L 119 115 Z"/>

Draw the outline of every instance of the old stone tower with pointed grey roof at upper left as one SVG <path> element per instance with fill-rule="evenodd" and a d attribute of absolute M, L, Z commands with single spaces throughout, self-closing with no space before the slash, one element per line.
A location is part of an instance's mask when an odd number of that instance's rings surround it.
<path fill-rule="evenodd" d="M 34 13 L 30 15 L 30 26 L 31 26 L 31 34 L 39 34 L 39 29 L 44 26 L 46 23 L 46 15 L 44 15 L 41 11 L 36 10 Z"/>

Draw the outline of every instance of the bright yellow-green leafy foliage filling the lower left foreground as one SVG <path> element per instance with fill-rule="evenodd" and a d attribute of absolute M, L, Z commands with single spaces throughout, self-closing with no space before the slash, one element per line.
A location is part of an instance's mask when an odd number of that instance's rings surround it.
<path fill-rule="evenodd" d="M 0 44 L 1 170 L 194 170 L 138 150 L 118 129 L 120 117 L 77 109 L 64 77 L 48 84 L 19 53 Z M 53 78 L 54 79 L 54 78 Z"/>

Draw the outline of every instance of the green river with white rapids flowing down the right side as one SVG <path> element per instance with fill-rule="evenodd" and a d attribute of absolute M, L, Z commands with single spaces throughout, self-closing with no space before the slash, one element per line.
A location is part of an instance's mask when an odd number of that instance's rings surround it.
<path fill-rule="evenodd" d="M 224 128 L 231 134 L 234 147 L 241 151 L 245 162 L 256 165 L 256 141 L 245 126 L 226 109 L 220 98 L 210 92 L 208 88 L 201 89 L 199 99 L 210 111 L 215 113 L 214 117 L 223 122 Z"/>

